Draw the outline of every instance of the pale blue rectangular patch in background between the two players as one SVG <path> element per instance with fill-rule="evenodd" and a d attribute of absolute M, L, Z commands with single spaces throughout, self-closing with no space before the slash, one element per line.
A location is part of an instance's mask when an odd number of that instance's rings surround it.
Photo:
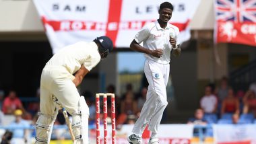
<path fill-rule="evenodd" d="M 128 70 L 129 72 L 138 72 L 143 70 L 145 57 L 139 52 L 118 52 L 117 65 L 118 71 Z"/>

